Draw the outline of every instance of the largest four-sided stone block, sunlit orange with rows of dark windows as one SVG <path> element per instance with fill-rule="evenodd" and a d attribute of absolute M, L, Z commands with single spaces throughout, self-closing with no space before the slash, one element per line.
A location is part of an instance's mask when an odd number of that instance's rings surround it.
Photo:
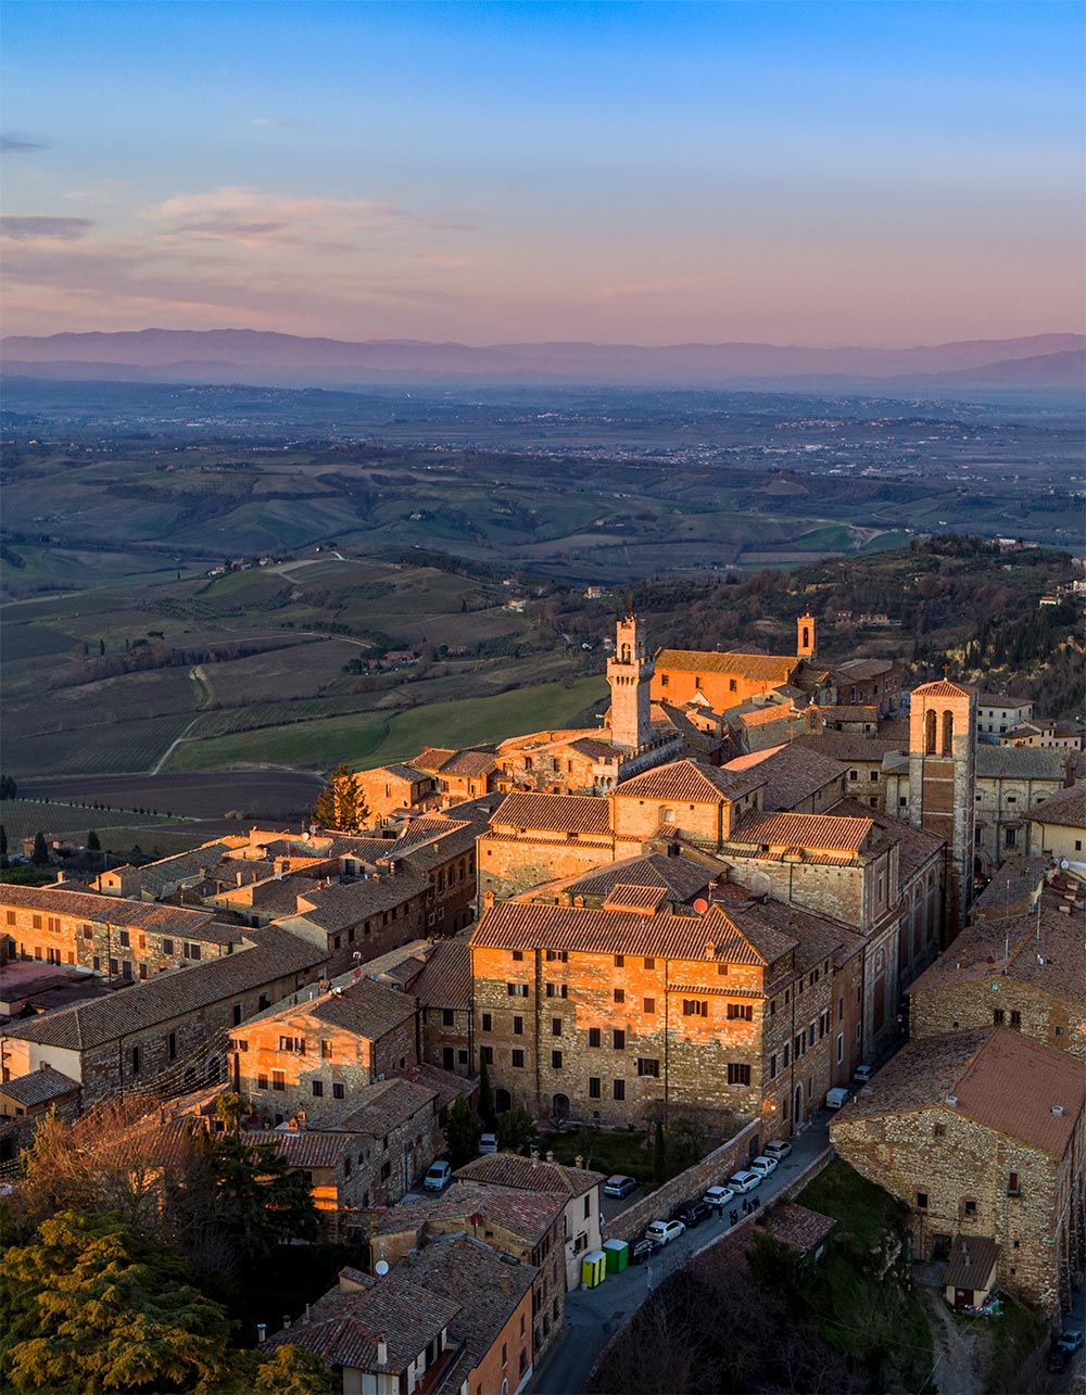
<path fill-rule="evenodd" d="M 835 961 L 861 940 L 738 887 L 715 896 L 702 914 L 634 884 L 600 910 L 491 907 L 470 943 L 497 1106 L 602 1123 L 708 1110 L 761 1117 L 766 1137 L 805 1117 L 843 1062 Z"/>

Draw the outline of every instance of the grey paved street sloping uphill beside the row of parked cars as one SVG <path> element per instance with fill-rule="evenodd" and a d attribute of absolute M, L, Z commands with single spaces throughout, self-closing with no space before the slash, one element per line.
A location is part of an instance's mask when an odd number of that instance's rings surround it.
<path fill-rule="evenodd" d="M 793 1140 L 791 1155 L 758 1189 L 762 1205 L 772 1201 L 797 1173 L 825 1152 L 828 1144 L 828 1116 L 822 1112 L 800 1138 Z M 660 1250 L 649 1264 L 637 1268 L 631 1265 L 625 1274 L 613 1274 L 597 1289 L 567 1293 L 565 1324 L 532 1380 L 533 1395 L 577 1395 L 583 1391 L 603 1348 L 630 1321 L 652 1289 L 730 1229 L 727 1216 L 704 1221 L 697 1230 L 688 1230 L 681 1240 L 673 1240 Z"/>

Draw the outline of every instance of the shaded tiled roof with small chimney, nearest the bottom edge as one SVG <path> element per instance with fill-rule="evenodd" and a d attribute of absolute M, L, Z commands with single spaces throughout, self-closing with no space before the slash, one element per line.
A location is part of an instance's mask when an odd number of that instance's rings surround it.
<path fill-rule="evenodd" d="M 382 1371 L 406 1371 L 434 1338 L 455 1321 L 461 1304 L 422 1288 L 410 1269 L 394 1269 L 364 1289 L 332 1289 L 318 1299 L 308 1318 L 299 1318 L 262 1345 L 300 1346 L 329 1366 L 377 1370 L 377 1342 L 384 1339 L 387 1362 Z"/>

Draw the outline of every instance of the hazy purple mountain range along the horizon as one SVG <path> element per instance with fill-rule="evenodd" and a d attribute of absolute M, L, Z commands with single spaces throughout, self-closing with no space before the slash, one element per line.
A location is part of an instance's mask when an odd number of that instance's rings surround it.
<path fill-rule="evenodd" d="M 410 339 L 306 339 L 260 329 L 140 329 L 11 335 L 7 374 L 134 382 L 336 385 L 388 381 L 660 384 L 818 388 L 916 384 L 953 389 L 1076 389 L 1086 335 L 976 339 L 914 349 L 800 345 L 509 343 L 470 346 Z"/>

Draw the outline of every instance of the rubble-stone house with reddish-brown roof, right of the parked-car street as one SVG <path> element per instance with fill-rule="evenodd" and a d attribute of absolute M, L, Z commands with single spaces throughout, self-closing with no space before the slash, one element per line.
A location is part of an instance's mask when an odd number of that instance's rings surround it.
<path fill-rule="evenodd" d="M 909 1207 L 920 1258 L 990 1239 L 998 1286 L 1057 1314 L 1083 1260 L 1085 1103 L 1080 1060 L 997 1027 L 910 1042 L 831 1138 Z"/>

